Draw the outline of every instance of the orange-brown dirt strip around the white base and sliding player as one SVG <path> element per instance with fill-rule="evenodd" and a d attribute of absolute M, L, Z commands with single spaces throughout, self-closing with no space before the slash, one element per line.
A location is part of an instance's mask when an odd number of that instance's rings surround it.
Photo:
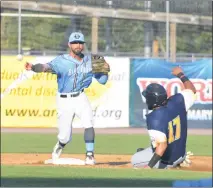
<path fill-rule="evenodd" d="M 78 158 L 84 160 L 84 155 L 62 154 L 63 158 Z M 132 168 L 130 164 L 131 155 L 96 155 L 96 165 L 83 166 L 84 168 Z M 50 154 L 1 154 L 1 164 L 5 165 L 30 165 L 30 166 L 51 166 L 45 165 L 44 161 L 51 158 Z M 212 157 L 192 156 L 192 165 L 182 170 L 190 171 L 212 171 Z M 81 168 L 82 166 L 78 166 Z"/>

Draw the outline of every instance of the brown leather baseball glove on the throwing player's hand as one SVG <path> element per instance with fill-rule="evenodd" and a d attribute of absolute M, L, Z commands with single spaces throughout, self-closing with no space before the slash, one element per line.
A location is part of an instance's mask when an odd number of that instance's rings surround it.
<path fill-rule="evenodd" d="M 110 72 L 109 64 L 103 56 L 92 55 L 92 72 L 108 74 Z"/>

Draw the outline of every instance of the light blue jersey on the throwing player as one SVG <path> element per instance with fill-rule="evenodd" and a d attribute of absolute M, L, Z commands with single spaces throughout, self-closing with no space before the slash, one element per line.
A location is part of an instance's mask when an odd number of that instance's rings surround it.
<path fill-rule="evenodd" d="M 84 56 L 82 61 L 78 61 L 69 54 L 57 56 L 48 65 L 53 74 L 57 74 L 58 92 L 72 93 L 81 91 L 89 87 L 92 77 L 99 83 L 105 84 L 108 80 L 107 75 L 92 73 L 92 60 L 90 56 Z"/>

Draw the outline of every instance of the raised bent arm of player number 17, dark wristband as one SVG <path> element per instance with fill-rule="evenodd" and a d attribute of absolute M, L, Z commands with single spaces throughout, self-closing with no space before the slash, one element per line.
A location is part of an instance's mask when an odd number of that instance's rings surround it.
<path fill-rule="evenodd" d="M 172 74 L 174 76 L 177 76 L 184 85 L 184 90 L 181 91 L 181 94 L 184 97 L 184 101 L 185 101 L 185 107 L 186 107 L 186 111 L 189 110 L 189 108 L 194 104 L 194 101 L 196 99 L 196 89 L 194 84 L 187 78 L 187 76 L 185 76 L 183 70 L 180 67 L 175 67 L 172 70 Z"/>

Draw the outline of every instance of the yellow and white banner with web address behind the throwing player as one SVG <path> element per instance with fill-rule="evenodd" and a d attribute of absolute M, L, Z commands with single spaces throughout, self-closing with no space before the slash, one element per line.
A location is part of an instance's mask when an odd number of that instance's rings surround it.
<path fill-rule="evenodd" d="M 56 75 L 24 71 L 26 61 L 47 63 L 53 58 L 25 56 L 18 61 L 15 56 L 1 56 L 2 127 L 57 126 Z M 106 57 L 106 60 L 111 68 L 107 84 L 101 85 L 94 79 L 85 90 L 93 107 L 95 127 L 127 127 L 129 59 Z M 81 128 L 79 119 L 74 120 L 73 127 Z"/>

